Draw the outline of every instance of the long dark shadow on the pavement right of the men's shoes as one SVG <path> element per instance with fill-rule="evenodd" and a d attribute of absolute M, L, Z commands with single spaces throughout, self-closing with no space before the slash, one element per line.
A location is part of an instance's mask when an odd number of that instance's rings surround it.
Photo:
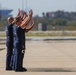
<path fill-rule="evenodd" d="M 28 68 L 27 72 L 76 72 L 72 68 Z"/>

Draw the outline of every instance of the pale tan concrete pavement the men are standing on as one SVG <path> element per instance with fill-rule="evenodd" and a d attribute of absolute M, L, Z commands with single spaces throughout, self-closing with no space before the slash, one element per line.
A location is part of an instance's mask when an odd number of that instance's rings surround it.
<path fill-rule="evenodd" d="M 27 72 L 5 70 L 6 45 L 0 44 L 0 75 L 76 75 L 76 40 L 26 41 Z"/>

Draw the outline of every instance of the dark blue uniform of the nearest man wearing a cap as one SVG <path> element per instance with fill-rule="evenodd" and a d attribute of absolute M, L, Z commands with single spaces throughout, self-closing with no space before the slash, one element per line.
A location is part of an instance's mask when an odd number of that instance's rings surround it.
<path fill-rule="evenodd" d="M 12 69 L 15 71 L 21 70 L 22 60 L 22 28 L 14 26 L 14 51 Z"/>

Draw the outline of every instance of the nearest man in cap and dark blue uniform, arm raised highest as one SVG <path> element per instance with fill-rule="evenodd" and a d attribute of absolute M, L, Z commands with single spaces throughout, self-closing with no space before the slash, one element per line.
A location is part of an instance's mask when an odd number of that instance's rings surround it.
<path fill-rule="evenodd" d="M 27 69 L 22 68 L 22 28 L 26 28 L 27 24 L 32 18 L 32 10 L 29 15 L 22 21 L 20 16 L 15 18 L 14 26 L 14 51 L 13 51 L 13 64 L 12 69 L 15 71 L 27 71 Z"/>

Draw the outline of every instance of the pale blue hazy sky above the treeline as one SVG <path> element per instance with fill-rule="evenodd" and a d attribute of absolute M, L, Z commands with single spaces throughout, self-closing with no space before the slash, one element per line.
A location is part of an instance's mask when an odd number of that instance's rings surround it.
<path fill-rule="evenodd" d="M 0 0 L 0 8 L 13 9 L 11 13 L 15 16 L 18 8 L 33 10 L 33 15 L 42 16 L 43 12 L 52 12 L 57 10 L 76 11 L 76 0 Z"/>

